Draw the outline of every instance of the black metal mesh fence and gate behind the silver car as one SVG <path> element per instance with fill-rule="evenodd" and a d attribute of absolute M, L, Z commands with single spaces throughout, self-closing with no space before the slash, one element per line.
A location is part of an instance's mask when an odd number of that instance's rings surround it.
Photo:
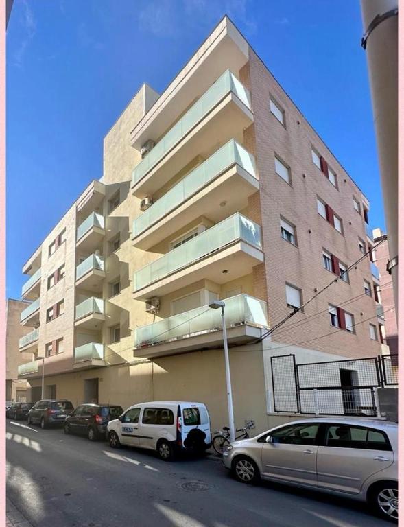
<path fill-rule="evenodd" d="M 397 384 L 396 355 L 296 364 L 271 357 L 275 412 L 377 416 L 375 389 Z"/>

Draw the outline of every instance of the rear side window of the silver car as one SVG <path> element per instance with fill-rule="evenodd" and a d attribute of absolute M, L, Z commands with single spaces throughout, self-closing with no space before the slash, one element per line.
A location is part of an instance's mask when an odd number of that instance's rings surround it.
<path fill-rule="evenodd" d="M 344 424 L 329 425 L 325 445 L 337 448 L 391 450 L 388 439 L 380 430 Z"/>

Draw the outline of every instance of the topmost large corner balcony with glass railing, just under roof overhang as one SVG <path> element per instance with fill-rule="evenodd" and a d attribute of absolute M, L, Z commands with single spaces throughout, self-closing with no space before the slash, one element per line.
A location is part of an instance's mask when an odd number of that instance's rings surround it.
<path fill-rule="evenodd" d="M 195 158 L 231 138 L 243 141 L 253 121 L 250 93 L 229 70 L 162 137 L 132 172 L 132 191 L 152 196 Z"/>

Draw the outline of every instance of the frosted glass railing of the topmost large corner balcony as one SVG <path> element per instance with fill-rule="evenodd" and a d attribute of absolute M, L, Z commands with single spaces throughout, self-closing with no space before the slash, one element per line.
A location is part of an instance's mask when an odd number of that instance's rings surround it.
<path fill-rule="evenodd" d="M 230 70 L 225 71 L 136 166 L 132 172 L 132 187 L 230 92 L 237 95 L 241 102 L 251 110 L 249 91 Z"/>

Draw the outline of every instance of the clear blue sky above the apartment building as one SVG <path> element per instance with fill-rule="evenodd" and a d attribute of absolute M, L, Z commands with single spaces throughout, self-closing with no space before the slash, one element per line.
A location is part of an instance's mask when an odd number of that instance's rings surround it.
<path fill-rule="evenodd" d="M 370 199 L 383 204 L 359 2 L 14 0 L 7 34 L 7 295 L 143 82 L 163 91 L 227 13 Z"/>

